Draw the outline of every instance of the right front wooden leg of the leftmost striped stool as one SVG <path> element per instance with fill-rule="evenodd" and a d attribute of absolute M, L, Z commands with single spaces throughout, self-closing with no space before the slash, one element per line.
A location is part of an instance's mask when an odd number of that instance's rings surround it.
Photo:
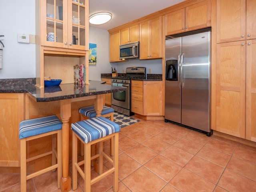
<path fill-rule="evenodd" d="M 58 188 L 60 188 L 60 180 L 62 178 L 62 130 L 58 130 L 57 136 L 57 156 L 58 156 Z"/>

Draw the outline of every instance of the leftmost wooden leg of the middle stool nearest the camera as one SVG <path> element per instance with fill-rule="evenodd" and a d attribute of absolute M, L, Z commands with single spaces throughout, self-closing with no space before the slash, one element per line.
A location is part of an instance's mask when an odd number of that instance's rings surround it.
<path fill-rule="evenodd" d="M 75 163 L 77 163 L 77 137 L 74 132 L 72 132 L 72 189 L 77 189 L 77 170 Z"/>

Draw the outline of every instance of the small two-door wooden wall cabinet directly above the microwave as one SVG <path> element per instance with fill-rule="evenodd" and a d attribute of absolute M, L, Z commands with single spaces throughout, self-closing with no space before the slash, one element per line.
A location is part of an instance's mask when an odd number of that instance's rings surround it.
<path fill-rule="evenodd" d="M 121 45 L 139 41 L 139 24 L 121 30 Z"/>

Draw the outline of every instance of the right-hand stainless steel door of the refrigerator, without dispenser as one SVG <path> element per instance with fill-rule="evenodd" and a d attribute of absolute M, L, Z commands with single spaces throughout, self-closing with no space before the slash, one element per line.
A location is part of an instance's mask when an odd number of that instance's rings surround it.
<path fill-rule="evenodd" d="M 210 132 L 210 32 L 182 37 L 181 123 Z"/>

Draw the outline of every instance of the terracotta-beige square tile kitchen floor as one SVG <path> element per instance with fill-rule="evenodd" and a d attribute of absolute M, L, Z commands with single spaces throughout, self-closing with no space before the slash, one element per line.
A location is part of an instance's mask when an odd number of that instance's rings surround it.
<path fill-rule="evenodd" d="M 104 149 L 109 152 L 108 142 Z M 104 168 L 110 168 L 109 162 Z M 56 179 L 56 172 L 47 172 L 29 180 L 27 191 L 60 192 Z M 20 191 L 19 182 L 20 174 L 0 174 L 0 192 Z M 76 192 L 84 192 L 83 187 L 79 177 Z M 112 175 L 92 185 L 92 192 L 112 191 Z M 141 120 L 122 128 L 119 192 L 227 191 L 256 191 L 256 148 L 163 120 Z"/>

